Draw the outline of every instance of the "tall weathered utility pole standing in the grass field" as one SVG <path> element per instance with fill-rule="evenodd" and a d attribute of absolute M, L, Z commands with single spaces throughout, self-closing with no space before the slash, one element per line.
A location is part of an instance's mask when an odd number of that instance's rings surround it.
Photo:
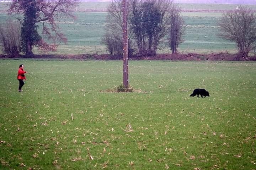
<path fill-rule="evenodd" d="M 123 86 L 129 87 L 128 79 L 128 31 L 127 31 L 127 3 L 122 0 L 123 4 Z"/>

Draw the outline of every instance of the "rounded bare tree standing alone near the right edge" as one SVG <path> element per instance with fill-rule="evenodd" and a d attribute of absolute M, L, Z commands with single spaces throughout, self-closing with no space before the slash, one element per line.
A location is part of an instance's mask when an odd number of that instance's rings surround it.
<path fill-rule="evenodd" d="M 255 48 L 256 15 L 249 8 L 239 6 L 235 12 L 223 13 L 218 21 L 219 37 L 236 43 L 238 57 L 247 57 Z"/>

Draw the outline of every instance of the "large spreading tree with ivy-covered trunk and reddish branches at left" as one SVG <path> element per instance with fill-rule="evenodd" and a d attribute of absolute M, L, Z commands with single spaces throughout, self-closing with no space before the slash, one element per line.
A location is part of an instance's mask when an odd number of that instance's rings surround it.
<path fill-rule="evenodd" d="M 24 16 L 24 18 L 17 19 L 23 23 L 23 31 L 26 32 L 23 36 L 25 44 L 27 44 L 26 53 L 33 54 L 32 47 L 34 45 L 54 50 L 57 41 L 66 43 L 66 38 L 60 31 L 57 21 L 61 21 L 64 18 L 75 19 L 71 9 L 74 9 L 78 2 L 78 0 L 12 0 L 9 4 L 9 13 L 22 14 Z M 39 22 L 42 23 L 42 34 L 52 41 L 53 45 L 48 45 L 38 35 L 36 23 Z M 26 38 L 29 32 L 33 36 Z"/>

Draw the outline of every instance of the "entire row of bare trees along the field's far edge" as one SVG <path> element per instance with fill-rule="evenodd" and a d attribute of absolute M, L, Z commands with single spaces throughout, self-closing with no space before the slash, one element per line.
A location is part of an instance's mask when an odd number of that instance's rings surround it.
<path fill-rule="evenodd" d="M 67 42 L 57 21 L 75 19 L 70 9 L 78 0 L 13 0 L 9 14 L 21 14 L 18 22 L 7 21 L 0 25 L 0 47 L 5 54 L 18 57 L 20 53 L 32 57 L 32 49 L 55 51 L 59 42 Z M 128 3 L 128 52 L 130 55 L 152 56 L 168 46 L 178 52 L 183 42 L 186 24 L 181 9 L 172 0 L 129 0 Z M 122 49 L 122 0 L 112 0 L 107 7 L 105 34 L 102 43 L 108 53 L 121 58 Z M 38 33 L 38 23 L 42 32 Z M 256 49 L 256 15 L 246 6 L 222 14 L 218 20 L 218 36 L 235 42 L 239 57 L 247 57 Z M 48 43 L 47 43 L 48 42 Z"/>

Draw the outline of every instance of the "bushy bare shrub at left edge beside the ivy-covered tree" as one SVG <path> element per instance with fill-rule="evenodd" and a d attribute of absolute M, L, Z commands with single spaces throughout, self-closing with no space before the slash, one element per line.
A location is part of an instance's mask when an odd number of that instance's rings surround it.
<path fill-rule="evenodd" d="M 7 20 L 0 25 L 0 46 L 5 54 L 18 57 L 21 51 L 20 23 Z"/>

